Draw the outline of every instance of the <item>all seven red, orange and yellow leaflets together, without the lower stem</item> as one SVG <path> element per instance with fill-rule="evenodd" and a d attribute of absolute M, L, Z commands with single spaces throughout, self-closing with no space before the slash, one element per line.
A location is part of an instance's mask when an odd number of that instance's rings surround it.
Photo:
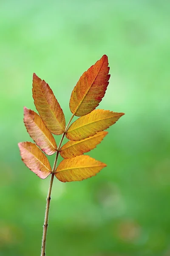
<path fill-rule="evenodd" d="M 49 85 L 35 73 L 33 75 L 33 99 L 39 113 L 24 107 L 24 123 L 28 134 L 34 140 L 19 143 L 20 154 L 26 166 L 37 176 L 45 179 L 54 173 L 58 180 L 78 181 L 96 175 L 106 166 L 98 160 L 83 155 L 94 149 L 108 134 L 103 131 L 113 125 L 124 113 L 95 109 L 101 102 L 110 78 L 108 57 L 102 58 L 80 77 L 71 93 L 70 110 L 74 116 L 80 116 L 71 125 L 65 126 L 65 116 Z M 62 134 L 57 146 L 52 134 Z M 66 136 L 68 142 L 62 145 Z M 41 150 L 40 150 L 41 149 Z M 64 160 L 51 169 L 45 156 L 55 152 Z"/>

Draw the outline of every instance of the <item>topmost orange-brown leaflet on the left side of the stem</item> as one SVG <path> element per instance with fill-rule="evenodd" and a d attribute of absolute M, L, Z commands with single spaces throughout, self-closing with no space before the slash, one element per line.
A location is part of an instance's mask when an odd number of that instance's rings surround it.
<path fill-rule="evenodd" d="M 49 85 L 35 73 L 32 93 L 37 111 L 48 130 L 56 135 L 62 134 L 65 131 L 64 113 Z"/>

